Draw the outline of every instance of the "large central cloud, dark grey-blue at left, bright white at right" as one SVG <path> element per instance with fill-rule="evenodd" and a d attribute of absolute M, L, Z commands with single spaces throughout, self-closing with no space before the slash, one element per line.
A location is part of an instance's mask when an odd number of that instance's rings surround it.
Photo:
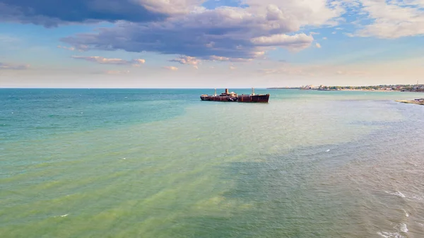
<path fill-rule="evenodd" d="M 242 1 L 244 8 L 198 6 L 165 21 L 130 23 L 64 37 L 62 42 L 78 49 L 124 50 L 179 54 L 208 60 L 255 59 L 276 47 L 300 50 L 310 47 L 313 37 L 298 32 L 305 26 L 335 25 L 343 8 L 324 0 Z M 279 40 L 276 40 L 279 38 Z M 267 39 L 270 39 L 266 41 Z M 260 52 L 260 53 L 259 53 Z M 215 59 L 216 60 L 216 59 Z"/>

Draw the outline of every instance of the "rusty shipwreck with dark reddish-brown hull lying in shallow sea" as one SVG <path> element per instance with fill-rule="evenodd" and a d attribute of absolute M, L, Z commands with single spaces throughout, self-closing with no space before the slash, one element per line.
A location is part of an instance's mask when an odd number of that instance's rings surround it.
<path fill-rule="evenodd" d="M 254 91 L 253 91 L 254 92 Z M 257 94 L 252 93 L 251 95 L 237 95 L 236 93 L 229 93 L 228 89 L 225 88 L 225 93 L 220 95 L 201 95 L 202 101 L 217 101 L 217 102 L 268 102 L 269 94 Z"/>

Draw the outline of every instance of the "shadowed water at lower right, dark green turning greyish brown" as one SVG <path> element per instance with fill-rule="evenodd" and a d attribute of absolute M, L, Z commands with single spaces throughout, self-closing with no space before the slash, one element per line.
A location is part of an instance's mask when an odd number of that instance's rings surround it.
<path fill-rule="evenodd" d="M 423 117 L 404 116 L 401 126 L 388 123 L 389 130 L 373 130 L 351 143 L 305 146 L 221 167 L 220 179 L 235 183 L 223 197 L 250 206 L 226 216 L 190 218 L 192 230 L 206 230 L 194 237 L 213 237 L 208 234 L 216 231 L 225 237 L 376 237 L 384 231 L 404 234 L 406 226 L 418 232 L 404 210 L 413 211 L 412 220 L 423 218 L 423 166 L 413 162 L 424 162 L 424 131 L 396 129 L 414 129 Z"/>

